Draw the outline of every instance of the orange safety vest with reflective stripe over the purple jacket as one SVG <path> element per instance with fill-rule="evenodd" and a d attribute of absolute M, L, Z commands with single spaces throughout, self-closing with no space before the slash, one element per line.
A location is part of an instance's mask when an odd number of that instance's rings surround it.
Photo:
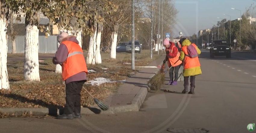
<path fill-rule="evenodd" d="M 62 44 L 68 50 L 67 59 L 61 63 L 62 80 L 65 81 L 67 78 L 83 71 L 88 74 L 82 48 L 73 41 L 63 41 Z"/>

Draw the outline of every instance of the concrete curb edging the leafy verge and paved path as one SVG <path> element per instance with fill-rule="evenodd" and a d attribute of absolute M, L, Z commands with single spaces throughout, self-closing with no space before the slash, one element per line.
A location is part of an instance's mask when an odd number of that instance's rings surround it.
<path fill-rule="evenodd" d="M 163 62 L 159 65 L 161 66 Z M 149 78 L 152 78 L 155 74 L 160 71 L 161 68 L 156 68 L 154 74 L 151 74 Z M 121 112 L 139 111 L 141 105 L 143 104 L 146 95 L 148 93 L 148 86 L 143 86 L 136 94 L 132 100 L 132 104 L 124 106 L 114 106 L 109 107 L 108 110 L 102 111 L 99 107 L 94 105 L 94 107 L 83 107 L 81 108 L 81 114 L 116 114 Z M 0 108 L 1 113 L 9 113 L 10 115 L 22 115 L 23 113 L 28 113 L 32 115 L 58 115 L 63 113 L 63 108 L 48 107 L 48 108 Z"/>

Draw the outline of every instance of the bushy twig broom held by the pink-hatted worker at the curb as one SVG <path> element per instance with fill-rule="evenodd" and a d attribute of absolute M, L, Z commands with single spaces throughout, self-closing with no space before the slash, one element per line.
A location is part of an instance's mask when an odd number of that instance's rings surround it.
<path fill-rule="evenodd" d="M 175 63 L 177 63 L 178 61 L 179 60 L 177 60 Z M 162 65 L 161 70 L 148 81 L 148 86 L 151 90 L 157 91 L 161 88 L 162 84 L 164 84 L 166 72 L 173 67 L 170 66 L 166 71 L 164 71 L 164 64 Z"/>

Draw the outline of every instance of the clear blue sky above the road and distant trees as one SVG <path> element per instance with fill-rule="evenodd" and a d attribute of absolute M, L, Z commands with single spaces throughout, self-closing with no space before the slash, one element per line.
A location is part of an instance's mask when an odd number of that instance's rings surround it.
<path fill-rule="evenodd" d="M 252 0 L 175 0 L 175 7 L 179 11 L 177 14 L 176 25 L 172 36 L 177 37 L 179 31 L 182 31 L 183 36 L 191 36 L 198 33 L 201 29 L 210 29 L 215 21 L 220 21 L 220 18 L 231 20 L 240 18 L 240 11 L 233 10 L 236 8 L 242 11 L 242 14 L 255 1 Z"/>

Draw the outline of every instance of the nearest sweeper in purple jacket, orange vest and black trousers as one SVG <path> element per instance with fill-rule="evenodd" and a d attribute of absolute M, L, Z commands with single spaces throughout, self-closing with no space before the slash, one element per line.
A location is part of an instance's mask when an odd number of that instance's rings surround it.
<path fill-rule="evenodd" d="M 57 41 L 60 46 L 53 57 L 54 64 L 61 64 L 62 80 L 66 84 L 66 104 L 64 113 L 57 119 L 81 118 L 81 90 L 86 82 L 88 73 L 83 50 L 79 46 L 76 36 L 61 32 Z"/>

